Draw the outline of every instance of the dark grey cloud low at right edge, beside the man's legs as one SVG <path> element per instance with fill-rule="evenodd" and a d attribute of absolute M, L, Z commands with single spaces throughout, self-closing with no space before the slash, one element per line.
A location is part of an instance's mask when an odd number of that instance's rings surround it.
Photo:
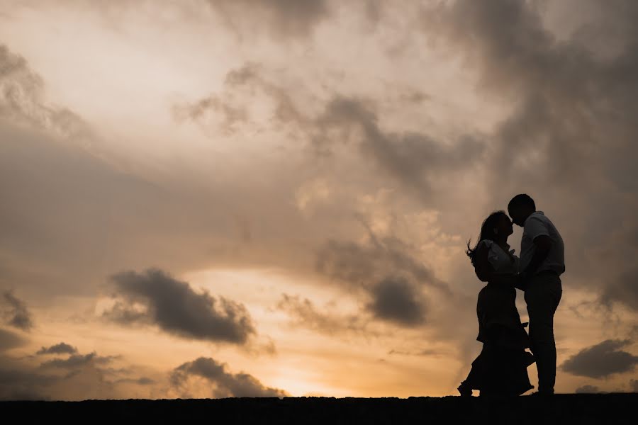
<path fill-rule="evenodd" d="M 588 378 L 606 378 L 614 373 L 629 372 L 638 365 L 638 356 L 620 348 L 630 344 L 629 340 L 608 339 L 571 356 L 561 365 L 561 369 Z"/>

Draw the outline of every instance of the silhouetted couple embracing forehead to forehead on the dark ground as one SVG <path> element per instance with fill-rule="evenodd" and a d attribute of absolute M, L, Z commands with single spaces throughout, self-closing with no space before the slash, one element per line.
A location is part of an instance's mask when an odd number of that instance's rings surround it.
<path fill-rule="evenodd" d="M 483 350 L 458 388 L 461 396 L 471 396 L 472 390 L 480 395 L 521 395 L 533 388 L 527 366 L 534 362 L 538 394 L 554 394 L 554 312 L 562 294 L 559 276 L 565 271 L 563 239 L 530 196 L 512 198 L 508 213 L 509 217 L 504 211 L 493 212 L 483 222 L 476 246 L 468 242 L 466 252 L 476 276 L 487 285 L 476 304 L 476 339 Z M 512 223 L 523 228 L 520 259 L 508 245 Z M 516 309 L 515 288 L 525 292 L 529 336 Z"/>

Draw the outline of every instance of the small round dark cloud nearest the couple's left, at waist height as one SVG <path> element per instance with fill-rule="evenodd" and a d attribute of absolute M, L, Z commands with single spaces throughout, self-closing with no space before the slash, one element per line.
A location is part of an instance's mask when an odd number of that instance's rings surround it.
<path fill-rule="evenodd" d="M 413 326 L 425 322 L 425 306 L 417 290 L 402 277 L 386 277 L 371 288 L 369 310 L 379 319 Z"/>

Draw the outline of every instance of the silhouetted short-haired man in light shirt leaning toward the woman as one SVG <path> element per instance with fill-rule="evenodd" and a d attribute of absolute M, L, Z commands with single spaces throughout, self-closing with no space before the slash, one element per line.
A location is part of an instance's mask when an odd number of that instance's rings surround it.
<path fill-rule="evenodd" d="M 530 316 L 530 349 L 536 357 L 538 392 L 554 394 L 556 342 L 554 313 L 563 293 L 560 275 L 565 271 L 561 234 L 534 200 L 525 194 L 508 204 L 512 221 L 523 228 L 520 242 L 520 288 L 525 290 Z"/>

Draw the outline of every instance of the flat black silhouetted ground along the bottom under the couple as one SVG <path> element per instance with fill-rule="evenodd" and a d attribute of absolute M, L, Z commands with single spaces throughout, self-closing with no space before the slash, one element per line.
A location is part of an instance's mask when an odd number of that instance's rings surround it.
<path fill-rule="evenodd" d="M 399 398 L 228 398 L 0 402 L 13 423 L 635 424 L 638 393 Z M 197 421 L 197 422 L 195 422 Z"/>

